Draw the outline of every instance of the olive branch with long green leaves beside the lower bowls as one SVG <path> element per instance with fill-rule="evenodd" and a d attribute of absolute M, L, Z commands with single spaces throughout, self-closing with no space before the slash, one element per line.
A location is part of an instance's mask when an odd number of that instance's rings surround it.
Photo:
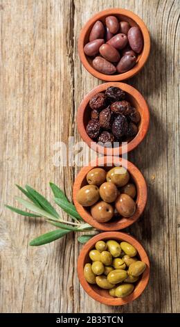
<path fill-rule="evenodd" d="M 63 209 L 73 221 L 64 221 L 62 218 L 60 218 L 60 214 L 51 205 L 51 203 L 48 202 L 48 200 L 46 200 L 42 194 L 38 193 L 29 185 L 26 185 L 25 189 L 23 189 L 21 186 L 16 184 L 17 188 L 28 198 L 28 201 L 24 200 L 24 198 L 19 198 L 18 196 L 15 196 L 15 200 L 17 200 L 26 209 L 30 210 L 30 212 L 18 209 L 16 207 L 11 207 L 10 205 L 5 205 L 5 207 L 10 209 L 12 212 L 16 212 L 21 216 L 44 218 L 45 221 L 57 227 L 57 230 L 52 230 L 51 232 L 42 234 L 33 239 L 33 241 L 30 241 L 30 246 L 40 246 L 53 242 L 69 232 L 89 232 L 95 230 L 91 227 L 91 225 L 83 221 L 73 203 L 69 202 L 68 198 L 66 198 L 64 192 L 52 182 L 49 184 L 51 186 L 51 190 L 53 191 L 53 200 L 55 201 L 56 205 Z M 84 234 L 78 237 L 78 241 L 84 244 L 93 236 L 94 234 Z"/>

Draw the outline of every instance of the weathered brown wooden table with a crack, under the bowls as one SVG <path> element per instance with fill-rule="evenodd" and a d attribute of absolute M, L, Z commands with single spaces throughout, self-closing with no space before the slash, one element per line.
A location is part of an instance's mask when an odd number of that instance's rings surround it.
<path fill-rule="evenodd" d="M 60 166 L 58 142 L 81 140 L 78 105 L 102 83 L 80 64 L 78 35 L 91 15 L 110 7 L 138 14 L 152 40 L 149 61 L 127 81 L 151 113 L 145 141 L 128 156 L 145 175 L 148 203 L 127 230 L 150 255 L 151 277 L 143 295 L 122 308 L 84 293 L 76 271 L 82 248 L 77 234 L 30 247 L 31 239 L 53 227 L 4 208 L 16 204 L 15 183 L 28 183 L 50 199 L 53 181 L 71 199 L 80 168 Z M 1 312 L 179 312 L 179 0 L 2 0 L 0 11 Z"/>

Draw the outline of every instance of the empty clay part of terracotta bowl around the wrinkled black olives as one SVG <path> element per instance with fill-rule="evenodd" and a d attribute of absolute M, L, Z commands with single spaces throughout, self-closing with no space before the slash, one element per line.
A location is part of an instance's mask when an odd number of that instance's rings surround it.
<path fill-rule="evenodd" d="M 129 101 L 132 106 L 138 109 L 138 112 L 141 115 L 141 122 L 138 125 L 138 134 L 136 134 L 136 136 L 131 141 L 128 141 L 127 145 L 120 145 L 120 147 L 112 148 L 103 147 L 102 145 L 93 141 L 87 134 L 87 124 L 91 119 L 91 108 L 89 107 L 89 100 L 97 93 L 105 92 L 105 90 L 109 88 L 109 86 L 117 86 L 118 88 L 122 88 L 122 90 L 127 93 L 127 101 Z M 103 83 L 99 86 L 96 86 L 95 88 L 93 88 L 93 90 L 87 93 L 78 108 L 77 124 L 80 136 L 82 137 L 84 142 L 87 143 L 89 147 L 91 147 L 92 150 L 104 155 L 119 156 L 123 153 L 134 150 L 134 148 L 143 141 L 143 138 L 145 138 L 145 135 L 147 134 L 147 130 L 149 128 L 149 123 L 150 113 L 147 103 L 143 98 L 143 95 L 141 95 L 141 93 L 139 93 L 136 88 L 133 88 L 132 86 L 129 86 L 125 83 L 111 82 Z"/>

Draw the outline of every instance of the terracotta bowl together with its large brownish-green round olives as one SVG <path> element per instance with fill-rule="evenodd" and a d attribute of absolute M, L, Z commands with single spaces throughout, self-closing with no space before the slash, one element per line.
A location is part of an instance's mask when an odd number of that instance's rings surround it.
<path fill-rule="evenodd" d="M 133 163 L 100 157 L 84 166 L 73 184 L 73 202 L 84 221 L 98 230 L 122 230 L 143 213 L 145 179 Z"/>

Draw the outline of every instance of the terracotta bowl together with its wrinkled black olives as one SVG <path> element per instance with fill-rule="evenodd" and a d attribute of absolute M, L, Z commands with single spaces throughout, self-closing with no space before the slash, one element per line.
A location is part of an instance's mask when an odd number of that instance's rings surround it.
<path fill-rule="evenodd" d="M 82 100 L 77 114 L 80 136 L 92 150 L 119 156 L 134 150 L 149 128 L 143 95 L 126 83 L 103 83 Z"/>

